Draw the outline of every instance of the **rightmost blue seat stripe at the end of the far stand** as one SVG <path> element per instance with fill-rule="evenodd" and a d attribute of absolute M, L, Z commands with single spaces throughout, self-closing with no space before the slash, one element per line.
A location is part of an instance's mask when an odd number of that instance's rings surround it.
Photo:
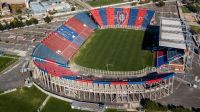
<path fill-rule="evenodd" d="M 155 13 L 155 11 L 153 11 L 153 10 L 147 10 L 146 16 L 144 18 L 144 22 L 142 24 L 143 28 L 147 28 L 147 26 L 150 24 L 154 13 Z"/>

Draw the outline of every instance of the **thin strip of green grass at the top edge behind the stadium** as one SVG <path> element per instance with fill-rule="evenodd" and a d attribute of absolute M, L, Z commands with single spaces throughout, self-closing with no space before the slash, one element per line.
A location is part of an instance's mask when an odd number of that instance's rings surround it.
<path fill-rule="evenodd" d="M 110 4 L 116 4 L 121 3 L 122 0 L 95 0 L 95 1 L 88 1 L 91 6 L 97 7 L 97 6 L 103 6 L 103 5 L 110 5 Z"/>

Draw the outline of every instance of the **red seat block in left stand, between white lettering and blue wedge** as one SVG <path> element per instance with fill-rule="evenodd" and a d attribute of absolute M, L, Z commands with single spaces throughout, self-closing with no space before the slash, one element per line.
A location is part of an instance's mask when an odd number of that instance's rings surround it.
<path fill-rule="evenodd" d="M 41 43 L 49 49 L 61 54 L 62 51 L 71 43 L 65 38 L 60 37 L 57 33 L 50 33 Z"/>

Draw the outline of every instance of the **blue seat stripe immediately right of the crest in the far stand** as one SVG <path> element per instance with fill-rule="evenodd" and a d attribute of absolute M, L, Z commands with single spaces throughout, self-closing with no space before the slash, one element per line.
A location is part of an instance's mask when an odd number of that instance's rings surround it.
<path fill-rule="evenodd" d="M 130 10 L 130 16 L 129 16 L 129 21 L 128 21 L 129 26 L 135 25 L 135 21 L 137 20 L 137 13 L 138 13 L 138 9 Z"/>

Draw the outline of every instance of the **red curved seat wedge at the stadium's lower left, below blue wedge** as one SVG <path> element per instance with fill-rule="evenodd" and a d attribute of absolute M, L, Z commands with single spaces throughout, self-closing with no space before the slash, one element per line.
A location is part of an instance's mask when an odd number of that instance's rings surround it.
<path fill-rule="evenodd" d="M 35 65 L 55 77 L 76 75 L 75 72 L 48 62 L 34 61 Z"/>

